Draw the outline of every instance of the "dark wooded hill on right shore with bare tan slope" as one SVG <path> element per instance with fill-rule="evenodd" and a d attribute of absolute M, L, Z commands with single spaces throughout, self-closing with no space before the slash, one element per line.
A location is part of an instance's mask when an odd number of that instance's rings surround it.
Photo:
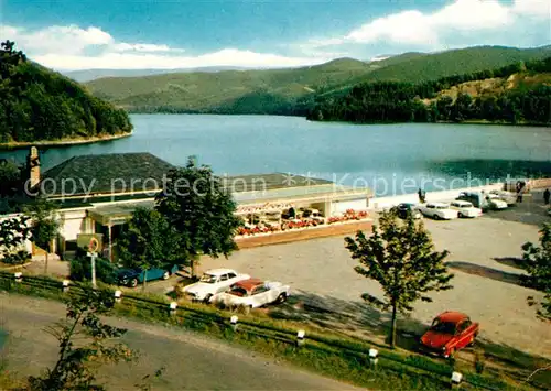
<path fill-rule="evenodd" d="M 318 97 L 317 121 L 490 121 L 551 124 L 551 56 L 435 82 L 364 83 L 343 97 Z"/>

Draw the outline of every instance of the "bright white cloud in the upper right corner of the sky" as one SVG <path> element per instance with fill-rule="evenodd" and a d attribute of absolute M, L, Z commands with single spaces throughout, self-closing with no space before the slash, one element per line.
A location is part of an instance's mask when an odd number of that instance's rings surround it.
<path fill-rule="evenodd" d="M 451 41 L 466 36 L 472 40 L 477 34 L 479 41 L 484 41 L 485 34 L 496 37 L 515 31 L 522 35 L 532 21 L 543 25 L 547 22 L 547 31 L 539 33 L 543 43 L 551 41 L 551 0 L 515 0 L 510 4 L 497 0 L 455 0 L 432 13 L 401 11 L 369 21 L 345 36 L 309 43 L 316 47 L 385 43 L 441 48 Z"/>

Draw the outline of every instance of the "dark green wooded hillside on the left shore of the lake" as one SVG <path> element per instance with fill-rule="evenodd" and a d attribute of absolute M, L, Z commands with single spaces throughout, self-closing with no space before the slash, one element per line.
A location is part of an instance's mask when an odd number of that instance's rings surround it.
<path fill-rule="evenodd" d="M 1 44 L 0 145 L 99 139 L 131 130 L 125 110 L 29 61 L 13 42 Z"/>

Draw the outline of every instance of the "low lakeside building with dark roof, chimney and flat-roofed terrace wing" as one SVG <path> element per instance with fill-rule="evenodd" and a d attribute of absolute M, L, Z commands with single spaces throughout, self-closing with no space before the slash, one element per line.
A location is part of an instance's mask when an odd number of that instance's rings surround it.
<path fill-rule="evenodd" d="M 40 173 L 36 150 L 30 181 L 34 194 L 42 194 L 60 208 L 63 221 L 57 252 L 76 249 L 79 235 L 101 233 L 106 256 L 114 259 L 112 242 L 138 207 L 153 208 L 168 174 L 176 166 L 151 153 L 117 153 L 74 156 Z M 39 181 L 40 178 L 40 181 Z M 371 193 L 331 181 L 284 173 L 219 176 L 233 194 L 236 214 L 245 224 L 281 224 L 292 208 L 315 210 L 331 217 L 346 210 L 366 210 Z"/>

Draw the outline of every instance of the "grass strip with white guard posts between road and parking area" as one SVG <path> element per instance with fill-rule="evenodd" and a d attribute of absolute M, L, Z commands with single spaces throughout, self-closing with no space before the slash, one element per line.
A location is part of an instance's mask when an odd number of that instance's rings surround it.
<path fill-rule="evenodd" d="M 30 283 L 31 280 L 28 280 Z M 33 276 L 32 281 L 33 285 L 29 285 L 6 278 L 0 279 L 0 290 L 57 301 L 67 297 L 67 293 L 62 293 L 60 289 L 60 281 L 44 276 Z M 111 290 L 108 286 L 100 289 Z M 78 289 L 69 287 L 69 294 L 71 292 L 77 293 Z M 122 301 L 115 306 L 115 315 L 207 334 L 369 389 L 442 390 L 450 387 L 453 370 L 461 371 L 467 380 L 462 385 L 464 389 L 530 389 L 499 371 L 487 370 L 484 374 L 478 374 L 473 371 L 471 365 L 464 362 L 434 360 L 400 348 L 391 350 L 383 344 L 353 339 L 323 327 L 312 327 L 304 322 L 273 319 L 262 312 L 239 314 L 238 327 L 234 330 L 229 318 L 235 313 L 180 301 L 180 311 L 171 314 L 170 301 L 162 295 L 125 293 Z M 296 344 L 295 333 L 299 329 L 306 332 L 304 346 Z M 369 348 L 379 350 L 379 360 L 375 368 L 369 362 Z"/>

